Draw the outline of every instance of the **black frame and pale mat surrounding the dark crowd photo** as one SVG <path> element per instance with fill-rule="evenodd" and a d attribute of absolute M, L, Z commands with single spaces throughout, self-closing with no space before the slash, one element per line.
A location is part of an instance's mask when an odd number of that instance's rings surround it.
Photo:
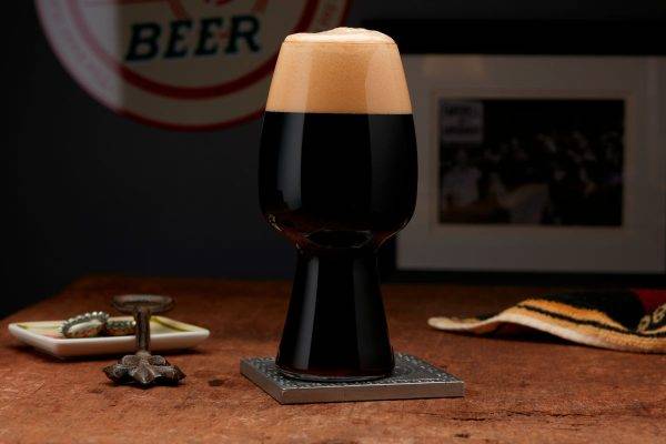
<path fill-rule="evenodd" d="M 650 40 L 656 38 L 658 23 L 381 21 L 366 26 L 391 34 L 401 48 L 417 134 L 418 202 L 393 249 L 397 271 L 664 275 L 666 58 Z M 478 39 L 488 32 L 475 32 L 488 27 L 498 36 L 490 43 Z M 464 30 L 472 38 L 457 47 L 451 40 L 436 46 L 432 39 L 436 29 Z M 541 30 L 538 36 L 549 37 L 526 42 L 524 36 L 535 29 Z M 626 41 L 620 43 L 617 36 L 622 30 L 632 30 L 637 41 L 644 37 L 646 44 L 630 48 Z M 546 222 L 549 224 L 441 223 L 437 202 L 443 143 L 437 105 L 442 100 L 462 101 L 467 107 L 491 101 L 502 113 L 502 107 L 509 112 L 522 107 L 527 109 L 525 115 L 529 113 L 529 105 L 525 107 L 528 101 L 558 103 L 559 108 L 568 101 L 571 107 L 564 108 L 563 115 L 578 112 L 583 122 L 593 122 L 598 114 L 581 113 L 584 104 L 602 101 L 610 107 L 615 102 L 617 108 L 620 103 L 624 158 L 619 223 L 606 219 L 587 225 L 579 221 L 567 224 L 566 218 L 557 218 L 558 209 Z M 512 103 L 519 107 L 508 107 Z M 485 108 L 486 114 L 490 109 Z M 589 134 L 596 139 L 603 135 L 595 131 Z M 552 195 L 553 189 L 546 188 L 545 193 Z M 564 212 L 561 208 L 559 213 Z"/>

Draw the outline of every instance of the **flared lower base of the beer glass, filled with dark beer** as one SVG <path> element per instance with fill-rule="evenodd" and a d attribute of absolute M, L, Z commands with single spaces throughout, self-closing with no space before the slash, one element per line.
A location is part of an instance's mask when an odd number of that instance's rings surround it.
<path fill-rule="evenodd" d="M 393 349 L 374 251 L 299 253 L 276 365 L 303 381 L 391 374 Z"/>

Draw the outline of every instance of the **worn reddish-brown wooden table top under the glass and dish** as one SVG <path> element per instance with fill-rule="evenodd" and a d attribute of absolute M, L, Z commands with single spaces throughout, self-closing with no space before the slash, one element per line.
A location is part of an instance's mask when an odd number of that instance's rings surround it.
<path fill-rule="evenodd" d="M 664 443 L 666 355 L 426 325 L 431 315 L 493 311 L 544 291 L 385 285 L 394 347 L 464 379 L 466 396 L 281 406 L 239 373 L 239 360 L 275 353 L 287 282 L 83 279 L 2 321 L 0 442 Z M 170 356 L 188 374 L 181 386 L 114 386 L 101 372 L 112 359 L 60 362 L 7 332 L 9 322 L 108 309 L 125 292 L 171 294 L 170 315 L 211 330 L 195 351 Z"/>

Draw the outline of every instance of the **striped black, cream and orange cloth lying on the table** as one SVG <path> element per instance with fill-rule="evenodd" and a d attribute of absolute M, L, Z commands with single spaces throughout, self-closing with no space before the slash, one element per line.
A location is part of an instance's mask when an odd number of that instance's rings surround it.
<path fill-rule="evenodd" d="M 666 291 L 588 291 L 529 297 L 500 313 L 431 317 L 438 330 L 521 334 L 526 329 L 581 344 L 640 353 L 666 353 Z"/>

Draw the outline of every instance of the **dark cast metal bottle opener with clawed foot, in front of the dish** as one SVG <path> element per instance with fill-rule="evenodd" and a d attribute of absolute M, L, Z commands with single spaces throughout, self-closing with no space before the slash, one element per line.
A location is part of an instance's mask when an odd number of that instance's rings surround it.
<path fill-rule="evenodd" d="M 185 377 L 181 370 L 164 357 L 150 353 L 150 316 L 173 306 L 169 296 L 153 294 L 123 294 L 113 296 L 113 307 L 121 313 L 132 313 L 137 322 L 137 353 L 128 354 L 118 363 L 104 367 L 104 373 L 119 384 L 139 383 L 178 384 Z"/>

